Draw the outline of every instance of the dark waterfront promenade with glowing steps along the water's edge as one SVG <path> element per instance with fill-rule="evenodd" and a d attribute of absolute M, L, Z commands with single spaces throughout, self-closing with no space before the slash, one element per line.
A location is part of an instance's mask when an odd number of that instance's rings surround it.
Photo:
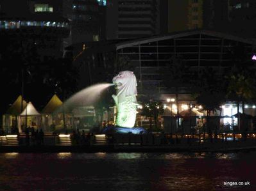
<path fill-rule="evenodd" d="M 229 152 L 256 149 L 256 137 L 250 134 L 46 134 L 40 141 L 21 135 L 2 135 L 0 152 Z"/>

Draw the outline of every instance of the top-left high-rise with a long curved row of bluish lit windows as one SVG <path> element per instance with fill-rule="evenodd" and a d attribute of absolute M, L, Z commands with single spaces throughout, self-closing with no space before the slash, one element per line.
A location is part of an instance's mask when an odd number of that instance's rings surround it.
<path fill-rule="evenodd" d="M 62 1 L 0 1 L 2 40 L 35 46 L 40 56 L 59 57 L 62 39 L 68 34 L 69 21 L 62 17 Z"/>

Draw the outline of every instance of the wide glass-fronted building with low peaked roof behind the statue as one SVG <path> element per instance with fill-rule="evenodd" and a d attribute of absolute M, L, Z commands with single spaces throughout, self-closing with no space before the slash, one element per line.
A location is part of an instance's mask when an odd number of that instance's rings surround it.
<path fill-rule="evenodd" d="M 234 65 L 236 47 L 244 47 L 248 60 L 255 52 L 255 41 L 213 31 L 187 31 L 167 36 L 144 38 L 116 45 L 117 57 L 128 57 L 135 68 L 141 92 L 157 88 L 159 93 L 172 93 L 166 89 L 162 73 L 173 56 L 180 56 L 192 71 L 201 72 L 211 67 L 219 73 Z M 189 93 L 188 89 L 180 89 Z"/>

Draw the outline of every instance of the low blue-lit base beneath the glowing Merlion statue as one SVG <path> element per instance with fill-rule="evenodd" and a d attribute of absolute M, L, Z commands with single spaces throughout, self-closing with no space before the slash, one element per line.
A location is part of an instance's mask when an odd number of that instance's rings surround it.
<path fill-rule="evenodd" d="M 143 127 L 123 127 L 123 126 L 107 126 L 102 130 L 103 134 L 147 134 L 148 131 L 145 130 Z"/>

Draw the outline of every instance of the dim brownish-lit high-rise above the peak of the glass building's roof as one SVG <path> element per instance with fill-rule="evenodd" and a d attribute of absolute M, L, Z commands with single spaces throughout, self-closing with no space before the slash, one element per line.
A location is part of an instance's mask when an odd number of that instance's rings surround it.
<path fill-rule="evenodd" d="M 203 0 L 168 0 L 168 32 L 201 29 L 203 26 Z"/>

